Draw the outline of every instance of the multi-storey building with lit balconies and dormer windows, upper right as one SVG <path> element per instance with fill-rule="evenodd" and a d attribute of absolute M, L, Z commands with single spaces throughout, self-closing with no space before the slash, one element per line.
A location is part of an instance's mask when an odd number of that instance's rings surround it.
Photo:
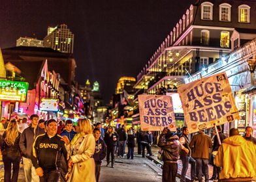
<path fill-rule="evenodd" d="M 242 0 L 202 0 L 189 6 L 138 73 L 138 94 L 175 92 L 185 78 L 256 38 L 255 8 L 256 1 Z"/>

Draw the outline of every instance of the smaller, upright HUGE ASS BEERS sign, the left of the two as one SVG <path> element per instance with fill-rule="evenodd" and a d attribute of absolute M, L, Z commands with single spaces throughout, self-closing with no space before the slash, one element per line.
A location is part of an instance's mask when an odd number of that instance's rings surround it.
<path fill-rule="evenodd" d="M 138 105 L 142 131 L 162 131 L 164 127 L 176 131 L 170 96 L 139 95 Z"/>

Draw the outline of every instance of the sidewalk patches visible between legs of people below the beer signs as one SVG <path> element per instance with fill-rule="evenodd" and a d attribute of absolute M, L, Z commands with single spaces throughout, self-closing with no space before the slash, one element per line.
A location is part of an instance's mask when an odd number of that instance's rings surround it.
<path fill-rule="evenodd" d="M 153 156 L 147 156 L 148 159 L 154 161 L 156 164 L 159 164 L 159 166 L 163 166 L 163 161 L 159 161 L 157 159 L 157 153 L 159 151 L 159 148 L 155 145 L 152 146 L 152 154 Z M 209 166 L 209 177 L 211 178 L 212 177 L 212 173 L 213 173 L 213 166 L 211 164 L 208 164 Z M 190 176 L 190 164 L 189 164 L 189 168 L 187 169 L 187 174 L 186 174 L 186 179 L 187 180 L 190 180 L 191 179 L 191 176 Z M 180 175 L 182 174 L 182 161 L 181 160 L 178 160 L 178 174 L 177 176 L 180 177 Z"/>

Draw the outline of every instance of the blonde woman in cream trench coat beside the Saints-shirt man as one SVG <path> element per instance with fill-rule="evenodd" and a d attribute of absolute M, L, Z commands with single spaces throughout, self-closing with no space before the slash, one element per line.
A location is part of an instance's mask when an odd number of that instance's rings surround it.
<path fill-rule="evenodd" d="M 95 182 L 95 138 L 92 134 L 91 123 L 87 119 L 79 119 L 76 125 L 78 134 L 69 142 L 67 136 L 63 141 L 69 153 L 69 181 Z"/>

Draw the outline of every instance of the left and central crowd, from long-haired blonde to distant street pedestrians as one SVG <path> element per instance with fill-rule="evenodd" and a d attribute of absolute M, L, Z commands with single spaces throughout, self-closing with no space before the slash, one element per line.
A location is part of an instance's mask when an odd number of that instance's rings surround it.
<path fill-rule="evenodd" d="M 134 159 L 135 140 L 142 157 L 146 149 L 152 155 L 150 131 L 136 133 L 133 127 L 126 130 L 125 125 L 103 128 L 87 119 L 79 119 L 74 126 L 72 120 L 39 120 L 37 114 L 29 119 L 1 120 L 5 181 L 18 181 L 20 162 L 25 181 L 99 181 L 105 157 L 106 166 L 114 168 L 115 156 L 124 158 L 127 145 L 127 159 Z"/>

